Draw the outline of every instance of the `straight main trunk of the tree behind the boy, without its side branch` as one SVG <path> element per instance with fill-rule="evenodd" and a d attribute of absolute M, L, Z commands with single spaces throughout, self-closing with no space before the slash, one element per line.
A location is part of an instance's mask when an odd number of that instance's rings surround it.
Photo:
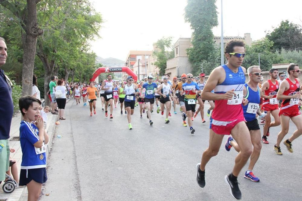
<path fill-rule="evenodd" d="M 36 1 L 27 0 L 27 19 L 24 19 L 25 33 L 22 32 L 23 68 L 22 68 L 22 96 L 32 95 L 34 61 L 36 55 L 37 36 L 43 34 L 37 24 Z"/>

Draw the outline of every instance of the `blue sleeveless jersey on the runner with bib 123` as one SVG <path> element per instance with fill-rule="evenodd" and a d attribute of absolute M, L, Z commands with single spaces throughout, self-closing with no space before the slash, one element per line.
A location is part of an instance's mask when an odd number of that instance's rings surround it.
<path fill-rule="evenodd" d="M 259 108 L 260 103 L 260 90 L 257 87 L 257 91 L 253 91 L 247 83 L 244 84 L 246 87 L 246 99 L 249 100 L 249 103 L 245 106 L 242 105 L 243 115 L 246 121 L 252 121 L 256 118 L 256 112 Z"/>

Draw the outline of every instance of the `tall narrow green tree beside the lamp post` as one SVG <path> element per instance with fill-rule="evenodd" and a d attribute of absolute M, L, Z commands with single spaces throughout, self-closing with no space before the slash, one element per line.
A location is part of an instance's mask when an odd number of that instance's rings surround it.
<path fill-rule="evenodd" d="M 218 25 L 216 0 L 188 0 L 185 7 L 185 21 L 189 22 L 193 47 L 187 49 L 192 64 L 191 73 L 197 75 L 201 64 L 210 62 L 215 52 L 212 28 Z"/>

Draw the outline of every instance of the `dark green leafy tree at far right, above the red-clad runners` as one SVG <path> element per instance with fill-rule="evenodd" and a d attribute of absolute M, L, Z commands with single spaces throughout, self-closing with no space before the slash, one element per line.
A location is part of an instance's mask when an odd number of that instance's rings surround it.
<path fill-rule="evenodd" d="M 302 48 L 302 27 L 288 20 L 281 21 L 280 26 L 275 28 L 266 37 L 274 43 L 273 50 Z"/>

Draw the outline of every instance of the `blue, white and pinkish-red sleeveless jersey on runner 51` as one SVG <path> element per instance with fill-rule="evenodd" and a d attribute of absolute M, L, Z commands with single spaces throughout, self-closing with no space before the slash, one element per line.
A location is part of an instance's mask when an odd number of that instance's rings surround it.
<path fill-rule="evenodd" d="M 226 65 L 222 65 L 226 77 L 225 80 L 218 84 L 215 89 L 214 93 L 217 94 L 224 94 L 227 91 L 235 90 L 236 96 L 234 95 L 232 100 L 215 100 L 215 108 L 212 112 L 212 118 L 217 121 L 234 121 L 243 117 L 243 109 L 242 109 L 242 101 L 236 102 L 236 99 L 239 98 L 240 94 L 241 99 L 243 98 L 243 85 L 245 84 L 245 75 L 241 66 L 238 68 L 237 73 L 231 71 Z M 232 104 L 228 102 L 236 102 Z"/>

